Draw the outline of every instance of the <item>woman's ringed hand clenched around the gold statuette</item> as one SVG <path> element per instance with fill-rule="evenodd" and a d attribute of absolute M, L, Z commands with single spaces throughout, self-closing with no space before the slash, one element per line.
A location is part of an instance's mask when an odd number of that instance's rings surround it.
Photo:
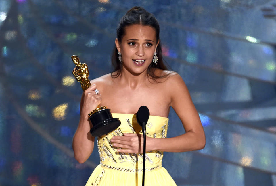
<path fill-rule="evenodd" d="M 101 102 L 101 94 L 95 92 L 97 86 L 91 85 L 83 92 L 83 104 L 81 107 L 81 114 L 87 116 L 92 110 L 95 110 Z"/>

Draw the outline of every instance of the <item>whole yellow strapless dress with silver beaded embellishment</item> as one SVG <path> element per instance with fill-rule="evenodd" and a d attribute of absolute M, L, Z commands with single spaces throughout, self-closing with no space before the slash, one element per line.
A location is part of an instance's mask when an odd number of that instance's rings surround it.
<path fill-rule="evenodd" d="M 143 153 L 117 153 L 110 139 L 123 133 L 140 133 L 141 126 L 135 114 L 112 113 L 119 118 L 121 125 L 114 131 L 98 137 L 97 145 L 100 164 L 94 169 L 86 186 L 140 186 L 142 185 Z M 153 138 L 166 138 L 168 118 L 150 116 L 146 125 L 146 135 Z M 145 161 L 145 186 L 176 185 L 168 171 L 162 167 L 162 151 L 149 151 Z"/>

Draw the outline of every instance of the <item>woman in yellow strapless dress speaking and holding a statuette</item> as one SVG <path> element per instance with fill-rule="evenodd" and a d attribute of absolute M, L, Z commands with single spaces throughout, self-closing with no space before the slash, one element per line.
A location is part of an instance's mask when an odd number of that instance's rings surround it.
<path fill-rule="evenodd" d="M 159 30 L 154 15 L 141 7 L 130 9 L 117 28 L 114 72 L 91 80 L 92 86 L 82 95 L 80 122 L 73 138 L 78 162 L 85 162 L 94 149 L 87 116 L 91 110 L 98 104 L 107 106 L 121 121 L 116 130 L 99 136 L 101 163 L 87 185 L 141 185 L 143 136 L 135 113 L 142 105 L 150 110 L 145 185 L 176 185 L 162 167 L 163 151 L 185 152 L 205 146 L 204 130 L 185 83 L 163 64 Z M 166 138 L 171 106 L 186 133 Z"/>

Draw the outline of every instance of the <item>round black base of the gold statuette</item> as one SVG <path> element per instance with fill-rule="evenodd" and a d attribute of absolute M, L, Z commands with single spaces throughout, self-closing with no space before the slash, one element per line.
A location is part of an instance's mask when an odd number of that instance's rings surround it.
<path fill-rule="evenodd" d="M 121 124 L 118 118 L 112 118 L 112 114 L 108 108 L 95 112 L 89 119 L 93 125 L 90 134 L 94 137 L 108 134 Z"/>

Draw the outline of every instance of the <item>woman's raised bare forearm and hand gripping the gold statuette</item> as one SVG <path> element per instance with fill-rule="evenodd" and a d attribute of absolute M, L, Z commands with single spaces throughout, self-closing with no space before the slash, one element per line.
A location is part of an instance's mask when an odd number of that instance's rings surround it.
<path fill-rule="evenodd" d="M 91 155 L 94 148 L 95 137 L 90 135 L 90 123 L 88 121 L 88 114 L 101 102 L 101 94 L 96 95 L 96 85 L 89 87 L 81 97 L 81 114 L 78 128 L 73 137 L 73 151 L 75 159 L 79 163 L 84 163 Z"/>

